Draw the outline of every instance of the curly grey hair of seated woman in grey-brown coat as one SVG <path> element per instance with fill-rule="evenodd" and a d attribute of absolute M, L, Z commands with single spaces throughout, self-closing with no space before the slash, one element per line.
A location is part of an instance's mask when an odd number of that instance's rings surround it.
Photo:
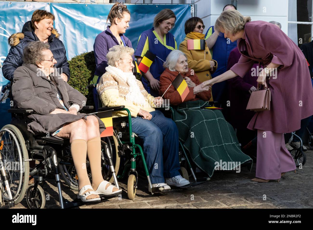
<path fill-rule="evenodd" d="M 41 41 L 30 42 L 23 50 L 23 62 L 26 64 L 38 64 L 44 61 L 43 50 L 49 49 L 49 43 Z"/>

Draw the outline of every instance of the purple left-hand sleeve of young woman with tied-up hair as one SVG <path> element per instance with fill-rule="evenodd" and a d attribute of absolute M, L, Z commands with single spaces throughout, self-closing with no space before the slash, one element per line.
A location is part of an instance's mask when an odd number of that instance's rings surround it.
<path fill-rule="evenodd" d="M 105 73 L 105 68 L 108 66 L 106 54 L 108 53 L 107 42 L 104 37 L 97 36 L 94 45 L 96 72 L 100 73 L 101 77 Z"/>

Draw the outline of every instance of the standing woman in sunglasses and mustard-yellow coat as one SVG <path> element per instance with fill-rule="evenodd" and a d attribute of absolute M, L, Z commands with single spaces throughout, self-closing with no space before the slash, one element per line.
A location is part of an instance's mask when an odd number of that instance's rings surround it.
<path fill-rule="evenodd" d="M 203 30 L 205 25 L 201 18 L 192 17 L 185 23 L 186 37 L 180 43 L 179 49 L 186 54 L 188 67 L 195 71 L 201 82 L 212 79 L 211 74 L 217 69 L 217 61 L 212 59 L 210 50 L 205 43 L 205 50 L 189 49 L 187 48 L 187 41 L 189 39 L 204 39 Z M 213 101 L 211 95 L 210 101 Z"/>

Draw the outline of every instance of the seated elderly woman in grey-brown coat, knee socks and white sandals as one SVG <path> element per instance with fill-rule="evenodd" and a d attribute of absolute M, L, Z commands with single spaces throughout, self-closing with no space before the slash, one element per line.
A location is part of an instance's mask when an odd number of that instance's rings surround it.
<path fill-rule="evenodd" d="M 100 132 L 103 122 L 94 115 L 79 113 L 86 98 L 63 81 L 54 65 L 57 61 L 49 44 L 29 43 L 24 49 L 23 65 L 14 72 L 12 95 L 15 107 L 32 109 L 28 130 L 33 134 L 47 134 L 69 139 L 71 154 L 79 181 L 77 198 L 82 202 L 100 201 L 100 196 L 121 193 L 104 181 L 101 173 Z M 92 184 L 86 170 L 88 156 Z"/>

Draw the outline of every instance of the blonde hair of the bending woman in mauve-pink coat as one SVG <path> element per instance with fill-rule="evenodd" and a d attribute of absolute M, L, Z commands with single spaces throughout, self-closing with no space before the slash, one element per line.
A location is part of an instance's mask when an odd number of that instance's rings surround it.
<path fill-rule="evenodd" d="M 225 30 L 227 33 L 237 33 L 244 29 L 247 22 L 251 21 L 249 16 L 244 17 L 238 10 L 224 10 L 216 19 L 214 29 Z"/>

